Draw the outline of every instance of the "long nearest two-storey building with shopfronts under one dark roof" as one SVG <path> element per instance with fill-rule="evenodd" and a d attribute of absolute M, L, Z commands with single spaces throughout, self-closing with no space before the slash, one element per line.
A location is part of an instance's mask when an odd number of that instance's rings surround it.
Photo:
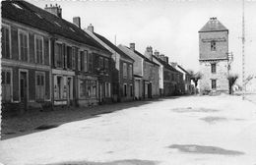
<path fill-rule="evenodd" d="M 57 5 L 43 10 L 26 1 L 2 3 L 4 109 L 23 113 L 51 105 L 93 105 L 100 96 L 111 99 L 112 53 L 62 19 L 61 11 Z"/>

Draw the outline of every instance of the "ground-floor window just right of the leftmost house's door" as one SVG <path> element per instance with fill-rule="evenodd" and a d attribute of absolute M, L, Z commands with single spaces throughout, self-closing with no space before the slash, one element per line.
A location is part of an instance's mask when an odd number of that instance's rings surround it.
<path fill-rule="evenodd" d="M 45 75 L 44 73 L 35 73 L 35 99 L 44 100 L 45 95 Z"/>

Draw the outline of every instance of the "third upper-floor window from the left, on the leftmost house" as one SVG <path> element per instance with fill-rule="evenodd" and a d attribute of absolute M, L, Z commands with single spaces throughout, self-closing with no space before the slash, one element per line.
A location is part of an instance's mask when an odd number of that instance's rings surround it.
<path fill-rule="evenodd" d="M 43 37 L 34 35 L 35 62 L 38 64 L 44 63 L 43 57 Z"/>

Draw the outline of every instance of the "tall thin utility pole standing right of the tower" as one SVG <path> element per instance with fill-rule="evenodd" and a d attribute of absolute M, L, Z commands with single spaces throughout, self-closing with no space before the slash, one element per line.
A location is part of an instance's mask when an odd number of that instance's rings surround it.
<path fill-rule="evenodd" d="M 245 94 L 245 57 L 244 57 L 244 42 L 245 42 L 245 30 L 244 30 L 244 0 L 242 0 L 242 99 L 244 100 Z"/>

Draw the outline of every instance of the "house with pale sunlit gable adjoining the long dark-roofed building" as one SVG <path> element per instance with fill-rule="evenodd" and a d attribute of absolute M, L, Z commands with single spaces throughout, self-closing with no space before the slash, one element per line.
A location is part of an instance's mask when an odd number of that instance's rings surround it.
<path fill-rule="evenodd" d="M 96 33 L 94 27 L 90 25 L 85 29 L 98 43 L 112 53 L 111 62 L 111 93 L 112 99 L 116 101 L 131 101 L 134 98 L 134 60 L 111 43 L 104 36 Z"/>

